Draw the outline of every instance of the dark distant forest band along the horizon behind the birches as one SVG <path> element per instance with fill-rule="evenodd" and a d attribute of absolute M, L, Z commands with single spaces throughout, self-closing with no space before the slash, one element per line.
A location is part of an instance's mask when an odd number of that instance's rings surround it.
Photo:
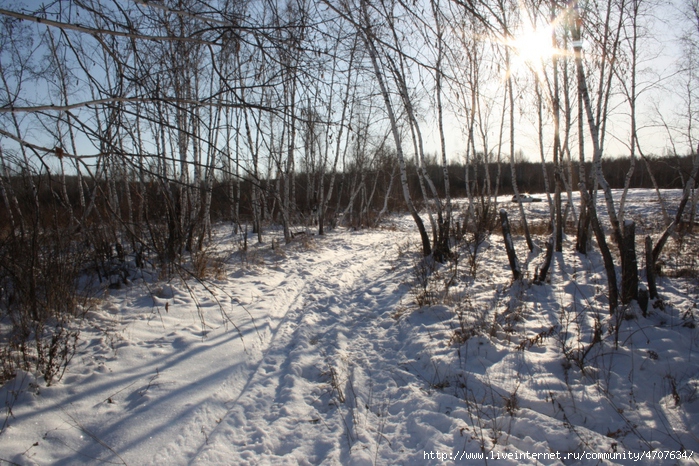
<path fill-rule="evenodd" d="M 326 219 L 326 224 L 332 227 L 337 224 L 338 217 L 343 217 L 342 222 L 348 226 L 373 226 L 376 214 L 381 211 L 386 202 L 387 211 L 401 212 L 405 210 L 405 203 L 400 193 L 400 187 L 397 171 L 393 171 L 392 159 L 388 158 L 383 163 L 380 169 L 364 169 L 360 170 L 350 168 L 345 172 L 338 173 L 335 180 L 334 193 L 331 196 L 330 211 L 331 215 Z M 629 170 L 630 161 L 628 158 L 616 158 L 603 160 L 602 166 L 605 177 L 612 189 L 623 189 L 626 173 Z M 648 157 L 646 160 L 641 160 L 637 163 L 636 169 L 633 172 L 630 187 L 632 189 L 644 188 L 653 189 L 653 183 L 649 172 L 653 173 L 655 180 L 660 189 L 682 189 L 689 177 L 692 169 L 691 156 L 675 156 L 675 157 Z M 442 168 L 437 164 L 428 164 L 427 171 L 432 179 L 438 179 Z M 571 168 L 570 173 L 574 185 L 577 185 L 579 165 L 576 163 Z M 587 164 L 589 173 L 590 164 Z M 451 195 L 455 198 L 466 198 L 466 166 L 463 164 L 449 165 L 449 179 L 451 182 Z M 499 185 L 499 194 L 512 194 L 512 174 L 509 164 L 503 163 L 499 173 L 498 183 L 498 165 L 491 163 L 488 167 L 488 172 L 491 177 L 491 189 L 495 189 L 496 184 Z M 546 192 L 544 181 L 544 167 L 537 162 L 519 162 L 516 164 L 517 185 L 521 192 L 531 194 L 539 194 Z M 553 179 L 553 165 L 546 164 L 546 173 L 549 180 Z M 408 170 L 411 194 L 414 198 L 420 198 L 420 188 L 416 168 L 414 164 L 409 164 Z M 391 185 L 391 177 L 394 177 Z M 293 214 L 295 223 L 299 226 L 311 225 L 314 222 L 314 209 L 317 209 L 317 187 L 319 186 L 319 174 L 300 172 L 295 176 L 296 185 L 296 212 Z M 68 209 L 65 209 L 65 197 L 61 193 L 62 184 L 58 175 L 35 175 L 36 185 L 39 188 L 39 200 L 44 209 L 50 208 L 52 215 L 49 216 L 51 221 L 64 223 L 69 218 Z M 131 180 L 136 177 L 132 175 Z M 325 175 L 325 186 L 329 185 L 330 175 Z M 78 178 L 76 176 L 66 176 L 66 190 L 68 199 L 71 201 L 73 210 L 80 209 L 78 202 Z M 167 209 L 166 204 L 170 202 L 165 197 L 162 197 L 160 187 L 156 186 L 158 181 L 153 179 L 141 185 L 135 182 L 130 182 L 130 193 L 126 193 L 127 182 L 117 179 L 102 180 L 104 186 L 98 189 L 97 192 L 108 193 L 109 185 L 114 183 L 116 189 L 113 191 L 114 204 L 119 206 L 119 217 L 121 219 L 131 218 L 132 221 L 139 215 L 143 215 L 143 207 L 145 200 L 148 201 L 148 212 L 150 218 L 161 220 L 165 218 Z M 469 182 L 474 196 L 479 196 L 484 193 L 485 183 L 485 166 L 483 164 L 472 164 L 469 166 Z M 276 206 L 276 199 L 271 194 L 271 191 L 276 189 L 276 180 L 262 180 L 259 187 L 261 214 L 266 224 L 274 224 L 280 222 L 278 218 L 279 212 Z M 15 193 L 19 195 L 18 199 L 24 199 L 30 205 L 33 204 L 30 185 L 27 180 L 21 175 L 16 175 L 12 178 L 12 186 Z M 211 205 L 211 214 L 214 221 L 236 222 L 241 226 L 245 223 L 252 222 L 252 212 L 250 209 L 252 201 L 252 186 L 250 179 L 235 180 L 215 180 L 213 183 L 213 196 Z M 387 193 L 388 188 L 391 191 Z M 205 187 L 202 186 L 202 190 Z M 437 186 L 439 194 L 444 196 L 443 187 Z M 577 191 L 577 189 L 573 189 Z M 387 195 L 388 194 L 388 195 Z M 564 193 L 565 196 L 565 193 Z M 203 199 L 203 197 L 202 197 Z M 21 202 L 21 201 L 20 201 Z M 96 199 L 97 205 L 100 205 L 99 199 Z M 239 206 L 236 212 L 236 205 Z M 130 207 L 129 207 L 130 206 Z M 132 211 L 129 212 L 129 209 Z M 140 214 L 139 214 L 140 212 Z M 340 215 L 343 214 L 343 215 Z M 99 221 L 103 217 L 109 215 L 109 203 L 101 205 L 100 209 L 93 213 L 93 219 Z M 141 218 L 143 218 L 141 216 Z M 10 216 L 8 215 L 6 206 L 0 204 L 0 229 L 3 231 L 3 236 L 7 235 L 10 228 Z M 135 225 L 134 225 L 135 227 Z M 251 230 L 252 231 L 252 230 Z M 117 238 L 114 238 L 115 240 Z"/>

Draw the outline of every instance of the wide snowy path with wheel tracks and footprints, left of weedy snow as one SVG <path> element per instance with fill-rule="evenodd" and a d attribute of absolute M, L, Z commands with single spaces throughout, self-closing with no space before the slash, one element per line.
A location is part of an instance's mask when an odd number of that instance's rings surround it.
<path fill-rule="evenodd" d="M 214 280 L 216 299 L 177 280 L 112 291 L 60 383 L 27 390 L 31 376 L 20 377 L 24 391 L 0 436 L 0 458 L 188 464 L 214 455 L 236 464 L 258 463 L 250 451 L 293 450 L 324 426 L 317 411 L 331 410 L 330 369 L 344 381 L 365 360 L 356 343 L 372 346 L 374 324 L 391 321 L 376 316 L 400 299 L 389 264 L 399 237 L 341 232 L 309 239 L 310 249 L 291 244 L 276 263 Z M 6 398 L 19 388 L 10 385 Z M 343 435 L 316 452 L 304 443 L 298 458 L 337 454 Z M 211 448 L 220 444 L 227 447 Z"/>

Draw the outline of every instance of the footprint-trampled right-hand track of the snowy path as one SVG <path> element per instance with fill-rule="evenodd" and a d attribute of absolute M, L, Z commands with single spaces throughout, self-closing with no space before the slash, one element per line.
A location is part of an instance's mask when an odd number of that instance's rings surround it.
<path fill-rule="evenodd" d="M 396 238 L 364 232 L 330 239 L 324 244 L 339 253 L 321 267 L 294 271 L 305 276 L 304 286 L 194 463 L 345 462 L 350 448 L 366 440 L 356 425 L 357 398 L 369 406 L 374 381 L 361 366 L 386 366 L 384 333 L 396 331 L 389 314 L 405 291 L 387 264 Z M 395 386 L 390 376 L 376 382 Z"/>

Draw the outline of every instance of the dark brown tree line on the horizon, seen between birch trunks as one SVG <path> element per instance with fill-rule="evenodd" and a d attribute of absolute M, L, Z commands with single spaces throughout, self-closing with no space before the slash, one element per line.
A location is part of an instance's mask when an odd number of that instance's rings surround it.
<path fill-rule="evenodd" d="M 625 173 L 628 171 L 631 161 L 629 158 L 607 159 L 602 163 L 603 170 L 608 173 L 608 181 L 613 189 L 623 189 L 626 181 Z M 383 215 L 386 213 L 396 213 L 403 211 L 404 202 L 396 190 L 396 165 L 395 155 L 387 154 L 380 164 L 375 164 L 371 167 L 349 167 L 345 171 L 338 172 L 335 175 L 334 192 L 330 195 L 333 199 L 332 205 L 329 206 L 325 218 L 326 227 L 342 224 L 350 227 L 373 227 L 376 226 Z M 414 198 L 420 197 L 420 181 L 417 174 L 417 167 L 414 163 L 408 163 L 408 185 L 410 195 Z M 447 166 L 449 179 L 451 180 L 450 189 L 451 195 L 454 198 L 466 198 L 469 190 L 477 192 L 479 186 L 484 184 L 486 169 L 478 166 L 467 166 L 463 163 L 449 163 Z M 587 169 L 590 169 L 588 164 Z M 656 184 L 660 189 L 682 189 L 685 184 L 685 178 L 691 173 L 692 156 L 686 155 L 681 157 L 652 157 L 647 163 L 647 170 L 635 171 L 629 187 L 631 189 L 652 189 L 654 187 L 650 177 L 653 174 Z M 466 170 L 469 175 L 466 175 Z M 426 171 L 432 178 L 440 175 L 441 167 L 431 161 L 427 161 Z M 502 195 L 513 194 L 512 189 L 512 172 L 509 170 L 500 170 L 499 179 L 495 179 L 498 174 L 496 167 L 488 170 L 491 174 L 491 183 L 498 183 L 502 186 Z M 515 173 L 517 175 L 517 185 L 523 192 L 531 194 L 544 195 L 546 193 L 545 179 L 553 178 L 554 166 L 551 162 L 545 163 L 542 167 L 540 163 L 535 162 L 516 162 Z M 330 183 L 330 175 L 324 176 L 324 184 Z M 296 199 L 294 205 L 297 211 L 292 214 L 296 219 L 295 224 L 303 229 L 305 227 L 318 226 L 317 208 L 318 208 L 318 193 L 319 175 L 306 172 L 298 172 L 296 174 Z M 125 179 L 135 179 L 132 174 Z M 466 188 L 466 179 L 469 179 L 469 189 Z M 361 182 L 361 180 L 364 180 Z M 480 180 L 480 182 L 479 182 Z M 573 174 L 574 184 L 577 182 L 577 174 Z M 15 174 L 7 177 L 4 182 L 9 186 L 11 191 L 15 193 L 18 199 L 23 199 L 24 202 L 32 198 L 32 192 L 29 188 L 27 180 L 21 174 Z M 92 183 L 99 183 L 97 180 L 91 180 L 86 184 L 84 180 L 76 175 L 65 175 L 65 177 L 52 176 L 49 172 L 43 175 L 43 179 L 35 178 L 35 185 L 40 188 L 37 190 L 38 203 L 42 206 L 42 210 L 57 210 L 60 212 L 60 218 L 65 221 L 70 218 L 69 212 L 81 215 L 80 211 L 80 186 L 91 186 Z M 269 185 L 273 186 L 275 180 L 270 180 Z M 102 180 L 103 186 L 101 190 L 108 189 L 106 180 Z M 123 182 L 120 185 L 121 189 L 117 189 L 116 204 L 121 206 L 119 215 L 128 217 L 129 212 L 126 210 L 129 205 L 128 199 L 131 198 L 131 204 L 144 203 L 147 200 L 139 197 L 139 186 L 137 183 L 130 184 Z M 231 180 L 214 179 L 212 182 L 211 206 L 210 215 L 213 222 L 232 222 L 234 228 L 242 228 L 244 225 L 253 223 L 253 210 L 250 207 L 250 199 L 253 196 L 253 186 L 255 182 L 250 179 L 243 178 L 233 183 Z M 129 192 L 126 193 L 128 188 Z M 258 187 L 259 188 L 259 187 Z M 65 189 L 67 199 L 70 202 L 70 207 L 63 206 L 61 191 Z M 206 186 L 201 185 L 198 189 L 205 190 Z M 440 198 L 445 196 L 443 186 L 437 187 L 437 193 Z M 237 196 L 237 197 L 232 197 Z M 265 199 L 261 204 L 263 207 L 260 210 L 262 223 L 279 224 L 280 213 L 276 205 L 276 199 L 273 194 L 262 190 L 260 196 Z M 60 200 L 59 200 L 60 199 Z M 133 199 L 137 199 L 134 201 Z M 149 209 L 157 209 L 157 205 L 161 200 L 157 196 L 149 198 Z M 19 201 L 18 201 L 19 202 Z M 26 210 L 25 207 L 23 210 Z M 141 207 L 135 206 L 138 211 Z M 104 215 L 109 215 L 109 207 L 106 203 L 99 205 L 99 210 Z M 381 214 L 381 215 L 379 215 Z M 0 204 L 0 217 L 5 219 L 2 224 L 3 236 L 10 234 L 10 223 L 7 221 L 13 216 L 12 209 L 8 210 L 8 206 Z M 115 243 L 118 241 L 114 238 Z"/>

